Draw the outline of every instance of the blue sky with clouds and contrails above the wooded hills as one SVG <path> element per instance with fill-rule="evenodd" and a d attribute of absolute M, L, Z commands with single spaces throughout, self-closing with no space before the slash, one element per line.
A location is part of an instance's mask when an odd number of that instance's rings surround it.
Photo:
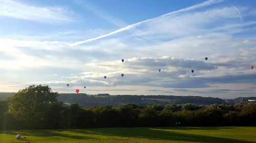
<path fill-rule="evenodd" d="M 0 0 L 0 92 L 46 84 L 58 93 L 256 96 L 255 7 Z"/>

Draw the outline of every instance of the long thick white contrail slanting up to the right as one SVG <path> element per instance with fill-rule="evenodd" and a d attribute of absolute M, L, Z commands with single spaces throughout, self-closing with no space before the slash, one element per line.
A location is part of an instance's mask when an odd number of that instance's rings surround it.
<path fill-rule="evenodd" d="M 209 6 L 209 5 L 212 5 L 212 4 L 221 3 L 221 2 L 223 2 L 223 1 L 224 1 L 224 0 L 209 0 L 209 1 L 206 1 L 206 2 L 203 2 L 203 3 L 200 3 L 200 4 L 196 4 L 196 5 L 193 5 L 193 6 L 184 8 L 184 9 L 180 9 L 180 10 L 177 10 L 177 11 L 174 11 L 174 12 L 170 12 L 170 13 L 167 13 L 167 14 L 163 14 L 163 15 L 158 16 L 158 17 L 155 17 L 155 18 L 147 19 L 147 20 L 144 20 L 144 21 L 141 21 L 141 22 L 138 22 L 138 23 L 134 23 L 134 24 L 128 25 L 128 26 L 126 26 L 126 27 L 120 28 L 119 30 L 116 30 L 116 31 L 114 31 L 114 32 L 111 32 L 111 33 L 109 33 L 109 34 L 101 35 L 101 36 L 98 36 L 98 37 L 95 37 L 95 38 L 91 38 L 91 39 L 87 39 L 87 40 L 84 40 L 84 41 L 78 41 L 78 42 L 75 42 L 75 43 L 71 44 L 70 46 L 76 46 L 76 45 L 80 45 L 80 44 L 83 44 L 83 43 L 95 41 L 95 40 L 98 40 L 98 39 L 101 39 L 101 38 L 104 38 L 104 37 L 108 37 L 108 36 L 111 36 L 111 35 L 113 35 L 113 34 L 120 33 L 120 32 L 126 31 L 126 30 L 129 30 L 129 29 L 131 29 L 131 28 L 133 28 L 133 27 L 136 27 L 137 25 L 140 25 L 140 24 L 142 24 L 142 23 L 146 23 L 146 22 L 149 22 L 149 21 L 153 21 L 153 20 L 155 20 L 155 19 L 157 19 L 157 18 L 161 18 L 161 17 L 173 15 L 173 14 L 180 13 L 180 12 L 185 12 L 185 11 L 190 11 L 190 10 L 194 10 L 194 9 L 206 7 L 206 6 Z"/>

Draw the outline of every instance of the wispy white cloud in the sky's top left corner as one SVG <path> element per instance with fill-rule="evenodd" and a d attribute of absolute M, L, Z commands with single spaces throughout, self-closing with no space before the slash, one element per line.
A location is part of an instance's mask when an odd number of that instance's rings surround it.
<path fill-rule="evenodd" d="M 37 21 L 42 23 L 74 22 L 73 13 L 63 7 L 38 7 L 14 2 L 11 0 L 0 1 L 0 16 Z"/>

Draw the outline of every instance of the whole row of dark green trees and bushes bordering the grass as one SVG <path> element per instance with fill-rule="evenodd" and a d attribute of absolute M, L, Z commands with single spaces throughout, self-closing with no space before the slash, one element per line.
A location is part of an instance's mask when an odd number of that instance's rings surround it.
<path fill-rule="evenodd" d="M 58 102 L 57 96 L 47 85 L 32 85 L 0 101 L 0 129 L 256 125 L 253 104 L 82 107 Z"/>

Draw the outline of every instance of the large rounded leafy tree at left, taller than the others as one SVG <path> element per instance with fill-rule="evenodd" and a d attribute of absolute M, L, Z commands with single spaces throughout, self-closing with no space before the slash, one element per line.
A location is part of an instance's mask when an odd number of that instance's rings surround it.
<path fill-rule="evenodd" d="M 50 104 L 57 102 L 57 92 L 52 92 L 48 85 L 31 85 L 19 90 L 8 98 L 8 113 L 28 127 L 39 127 L 47 114 Z"/>

